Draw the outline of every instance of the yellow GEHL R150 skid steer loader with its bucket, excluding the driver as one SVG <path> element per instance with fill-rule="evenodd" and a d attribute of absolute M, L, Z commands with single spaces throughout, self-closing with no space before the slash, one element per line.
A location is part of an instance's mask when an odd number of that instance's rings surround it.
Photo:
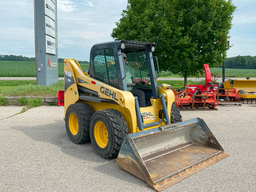
<path fill-rule="evenodd" d="M 71 141 L 91 140 L 103 158 L 118 155 L 120 167 L 160 191 L 228 154 L 202 119 L 182 121 L 171 85 L 157 84 L 155 46 L 127 40 L 96 44 L 89 71 L 82 71 L 77 60 L 64 59 L 64 98 Z M 129 83 L 128 66 L 149 84 Z M 145 107 L 130 86 L 144 92 Z"/>

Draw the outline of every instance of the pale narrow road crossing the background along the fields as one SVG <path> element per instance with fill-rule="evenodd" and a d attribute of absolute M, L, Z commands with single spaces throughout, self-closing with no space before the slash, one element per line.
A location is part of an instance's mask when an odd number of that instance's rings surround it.
<path fill-rule="evenodd" d="M 227 77 L 228 79 L 246 79 L 245 77 Z M 217 78 L 216 78 L 217 79 Z M 226 80 L 228 80 L 226 79 Z M 251 77 L 250 79 L 256 79 L 254 77 Z M 36 77 L 0 77 L 0 80 L 36 80 Z M 59 80 L 64 80 L 64 77 L 59 77 Z M 163 81 L 170 81 L 170 80 L 181 80 L 184 81 L 183 77 L 177 77 L 177 78 L 158 78 L 158 80 L 163 80 Z M 195 78 L 195 77 L 188 77 L 187 80 L 192 80 L 192 81 L 201 81 L 205 80 L 205 78 L 200 77 L 200 78 Z M 222 78 L 218 78 L 216 82 L 222 82 Z"/>

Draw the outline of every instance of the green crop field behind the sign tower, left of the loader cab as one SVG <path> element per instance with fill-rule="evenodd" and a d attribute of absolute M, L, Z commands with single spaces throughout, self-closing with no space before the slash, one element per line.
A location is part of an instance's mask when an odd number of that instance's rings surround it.
<path fill-rule="evenodd" d="M 89 68 L 89 64 L 79 63 L 79 65 L 83 71 Z M 0 77 L 36 77 L 36 63 L 34 61 L 0 61 Z M 64 77 L 64 63 L 58 63 L 58 77 Z"/>

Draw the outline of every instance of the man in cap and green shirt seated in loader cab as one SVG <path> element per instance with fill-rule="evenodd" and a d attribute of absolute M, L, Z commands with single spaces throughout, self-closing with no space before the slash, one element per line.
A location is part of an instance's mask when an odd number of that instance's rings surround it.
<path fill-rule="evenodd" d="M 122 53 L 123 55 L 123 59 L 124 59 L 124 63 L 126 63 L 126 54 Z M 147 79 L 137 79 L 134 76 L 133 70 L 129 65 L 125 65 L 125 73 L 126 73 L 126 83 L 140 83 L 141 81 L 143 81 L 146 85 L 148 84 Z M 139 101 L 139 106 L 140 107 L 145 107 L 145 94 L 143 91 L 136 89 L 133 86 L 127 86 L 127 90 L 130 91 L 133 96 L 138 97 L 138 101 Z"/>

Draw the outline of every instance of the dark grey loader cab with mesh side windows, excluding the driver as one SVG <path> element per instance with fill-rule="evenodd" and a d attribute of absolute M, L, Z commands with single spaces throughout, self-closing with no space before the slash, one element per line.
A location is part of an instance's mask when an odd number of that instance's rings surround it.
<path fill-rule="evenodd" d="M 147 79 L 150 83 L 132 84 L 145 93 L 146 106 L 150 106 L 150 98 L 158 97 L 156 74 L 152 57 L 155 44 L 139 41 L 113 41 L 96 44 L 90 53 L 90 76 L 117 89 L 127 91 L 125 65 L 129 65 L 135 78 Z M 126 54 L 126 63 L 122 52 Z"/>

